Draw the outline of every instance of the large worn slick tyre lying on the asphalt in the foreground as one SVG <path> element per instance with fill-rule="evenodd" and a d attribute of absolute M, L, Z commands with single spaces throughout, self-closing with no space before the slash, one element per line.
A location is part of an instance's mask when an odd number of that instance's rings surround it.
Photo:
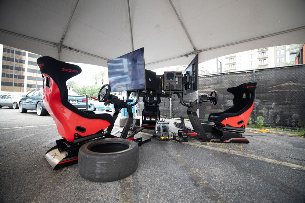
<path fill-rule="evenodd" d="M 95 182 L 123 179 L 135 172 L 139 163 L 138 143 L 121 138 L 88 142 L 78 152 L 81 177 Z"/>

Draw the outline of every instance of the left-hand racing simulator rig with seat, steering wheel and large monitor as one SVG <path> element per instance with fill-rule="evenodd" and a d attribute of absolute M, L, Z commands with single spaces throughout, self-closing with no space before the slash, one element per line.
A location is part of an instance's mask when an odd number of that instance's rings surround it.
<path fill-rule="evenodd" d="M 150 140 L 134 138 L 134 135 L 143 130 L 135 126 L 131 107 L 136 105 L 139 90 L 145 90 L 145 66 L 143 48 L 108 61 L 109 84 L 99 90 L 98 100 L 108 100 L 113 103 L 113 115 L 94 111 L 80 110 L 68 101 L 66 81 L 81 73 L 81 68 L 74 64 L 58 61 L 44 56 L 37 59 L 41 74 L 44 78 L 43 103 L 54 119 L 58 133 L 63 139 L 56 140 L 56 146 L 49 149 L 44 157 L 53 169 L 59 169 L 78 162 L 80 147 L 93 140 L 103 138 L 125 138 L 138 142 L 141 145 Z M 137 101 L 120 100 L 110 94 L 116 91 L 136 91 Z M 127 93 L 128 95 L 128 93 Z M 114 122 L 122 108 L 127 108 L 127 121 L 124 127 L 114 133 Z"/>

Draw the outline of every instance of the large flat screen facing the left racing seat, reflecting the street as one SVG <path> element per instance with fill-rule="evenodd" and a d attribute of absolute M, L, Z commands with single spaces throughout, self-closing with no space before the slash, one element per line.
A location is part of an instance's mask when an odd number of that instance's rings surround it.
<path fill-rule="evenodd" d="M 145 89 L 144 48 L 108 61 L 111 92 Z"/>

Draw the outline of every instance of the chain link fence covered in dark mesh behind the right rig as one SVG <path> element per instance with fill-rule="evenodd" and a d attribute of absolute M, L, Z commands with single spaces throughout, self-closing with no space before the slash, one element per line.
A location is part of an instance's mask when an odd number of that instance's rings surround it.
<path fill-rule="evenodd" d="M 196 100 L 198 95 L 216 91 L 217 105 L 203 102 L 199 107 L 199 119 L 207 121 L 210 113 L 224 111 L 233 105 L 233 94 L 227 92 L 227 88 L 251 81 L 257 81 L 256 100 L 250 115 L 253 124 L 258 117 L 263 117 L 266 127 L 305 127 L 305 65 L 199 76 L 199 91 L 186 95 L 185 100 Z M 161 98 L 161 120 L 180 116 L 188 119 L 187 107 L 180 104 L 178 96 L 172 95 L 169 99 Z M 141 98 L 140 114 L 143 105 Z"/>

